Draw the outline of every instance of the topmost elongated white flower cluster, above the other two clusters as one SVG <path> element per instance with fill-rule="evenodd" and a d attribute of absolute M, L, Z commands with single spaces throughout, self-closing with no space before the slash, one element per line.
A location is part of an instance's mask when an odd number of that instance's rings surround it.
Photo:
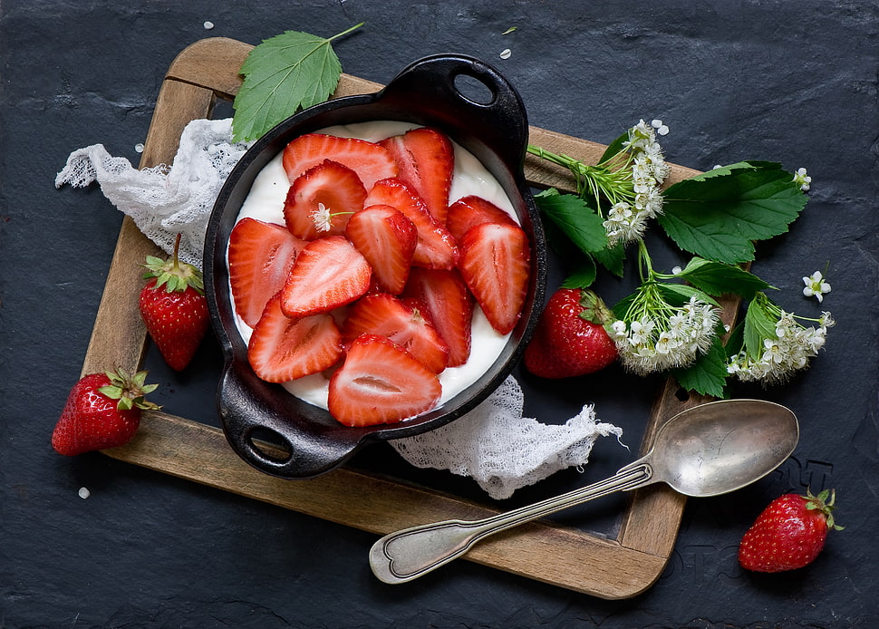
<path fill-rule="evenodd" d="M 617 201 L 607 212 L 604 230 L 611 247 L 641 238 L 647 219 L 662 213 L 662 182 L 670 169 L 656 141 L 654 128 L 668 133 L 668 127 L 659 120 L 651 124 L 639 121 L 629 130 L 625 147 L 632 159 L 634 196 Z"/>

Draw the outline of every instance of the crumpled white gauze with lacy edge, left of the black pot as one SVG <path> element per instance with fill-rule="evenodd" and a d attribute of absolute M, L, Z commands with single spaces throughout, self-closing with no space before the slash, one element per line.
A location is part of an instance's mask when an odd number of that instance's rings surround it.
<path fill-rule="evenodd" d="M 111 203 L 166 253 L 181 234 L 179 257 L 201 268 L 208 218 L 219 189 L 248 148 L 233 143 L 232 119 L 189 122 L 170 168 L 135 169 L 102 144 L 73 151 L 55 188 L 84 188 L 97 181 Z"/>

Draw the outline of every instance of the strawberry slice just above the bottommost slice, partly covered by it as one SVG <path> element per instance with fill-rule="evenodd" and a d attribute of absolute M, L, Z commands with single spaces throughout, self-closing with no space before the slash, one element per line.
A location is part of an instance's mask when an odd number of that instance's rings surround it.
<path fill-rule="evenodd" d="M 367 295 L 353 305 L 342 325 L 345 342 L 361 334 L 380 334 L 400 345 L 433 373 L 449 362 L 449 345 L 417 308 L 403 304 L 394 295 Z"/>

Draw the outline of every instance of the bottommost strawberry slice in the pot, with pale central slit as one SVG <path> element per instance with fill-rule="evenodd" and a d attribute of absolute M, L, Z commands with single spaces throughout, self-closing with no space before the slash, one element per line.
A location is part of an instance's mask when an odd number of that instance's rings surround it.
<path fill-rule="evenodd" d="M 327 406 L 346 426 L 392 423 L 430 411 L 442 386 L 410 353 L 387 337 L 363 334 L 330 379 Z"/>

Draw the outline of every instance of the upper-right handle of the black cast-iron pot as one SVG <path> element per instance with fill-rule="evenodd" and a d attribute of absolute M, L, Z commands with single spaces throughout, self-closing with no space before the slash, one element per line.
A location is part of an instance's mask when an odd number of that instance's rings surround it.
<path fill-rule="evenodd" d="M 521 169 L 525 161 L 525 103 L 501 73 L 474 57 L 436 54 L 411 63 L 382 90 L 382 102 L 433 111 L 443 126 L 472 133 L 504 163 Z M 438 108 L 438 102 L 457 106 Z"/>

